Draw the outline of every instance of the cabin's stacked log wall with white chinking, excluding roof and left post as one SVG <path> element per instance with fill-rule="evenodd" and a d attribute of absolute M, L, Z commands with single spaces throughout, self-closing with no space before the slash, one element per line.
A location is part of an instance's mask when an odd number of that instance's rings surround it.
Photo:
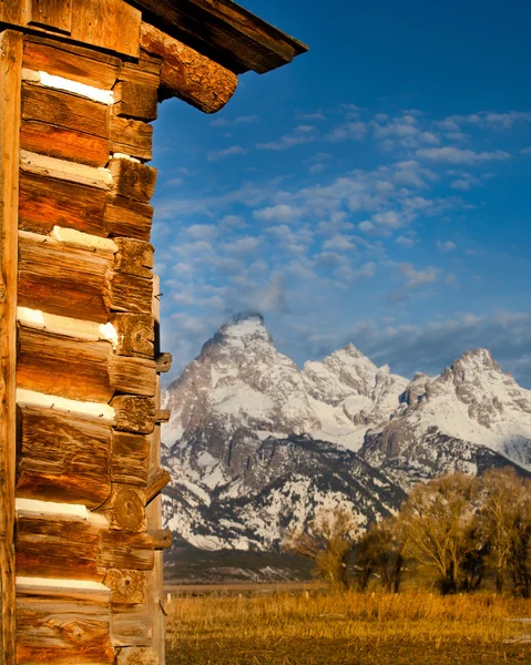
<path fill-rule="evenodd" d="M 150 231 L 161 58 L 24 35 L 17 661 L 162 663 Z"/>

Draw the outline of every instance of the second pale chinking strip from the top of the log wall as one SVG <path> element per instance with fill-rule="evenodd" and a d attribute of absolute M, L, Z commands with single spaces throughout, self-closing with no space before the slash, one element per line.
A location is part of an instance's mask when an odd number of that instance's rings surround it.
<path fill-rule="evenodd" d="M 112 176 L 106 168 L 94 168 L 67 160 L 57 160 L 27 150 L 20 151 L 20 167 L 27 173 L 45 175 L 99 190 L 109 191 L 112 185 Z"/>

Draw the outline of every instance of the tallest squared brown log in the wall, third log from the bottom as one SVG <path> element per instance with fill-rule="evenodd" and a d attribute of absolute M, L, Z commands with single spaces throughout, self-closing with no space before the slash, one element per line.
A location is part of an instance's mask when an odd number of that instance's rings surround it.
<path fill-rule="evenodd" d="M 101 505 L 111 493 L 111 428 L 50 409 L 19 408 L 17 495 Z"/>

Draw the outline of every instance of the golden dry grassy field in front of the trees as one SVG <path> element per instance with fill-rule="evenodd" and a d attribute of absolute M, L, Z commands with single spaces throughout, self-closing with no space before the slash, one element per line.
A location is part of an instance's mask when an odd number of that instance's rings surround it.
<path fill-rule="evenodd" d="M 167 665 L 531 664 L 531 601 L 428 592 L 176 597 Z M 531 641 L 531 636 L 529 637 Z M 515 641 L 515 642 L 509 642 Z"/>

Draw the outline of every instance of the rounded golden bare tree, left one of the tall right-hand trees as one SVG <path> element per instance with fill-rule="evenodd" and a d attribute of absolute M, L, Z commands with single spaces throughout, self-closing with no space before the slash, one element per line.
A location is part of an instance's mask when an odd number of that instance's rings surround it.
<path fill-rule="evenodd" d="M 477 480 L 455 473 L 418 484 L 402 505 L 399 522 L 406 552 L 436 573 L 442 593 L 466 586 L 463 566 L 476 548 Z"/>

